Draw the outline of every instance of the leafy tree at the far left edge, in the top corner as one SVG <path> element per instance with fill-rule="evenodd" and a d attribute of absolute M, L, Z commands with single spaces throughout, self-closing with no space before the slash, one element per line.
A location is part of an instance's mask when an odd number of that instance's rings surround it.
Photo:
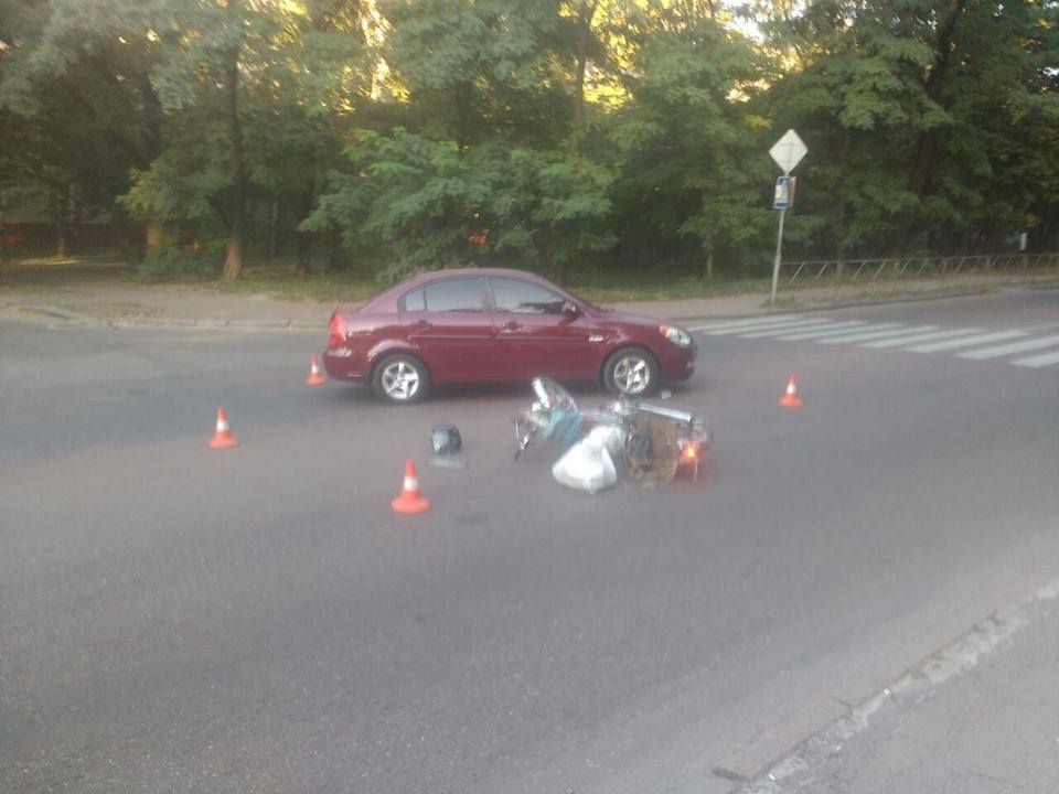
<path fill-rule="evenodd" d="M 46 197 L 57 249 L 85 213 L 113 211 L 126 173 L 160 151 L 161 109 L 149 79 L 154 43 L 136 28 L 145 3 L 6 3 L 0 112 L 8 175 Z"/>

